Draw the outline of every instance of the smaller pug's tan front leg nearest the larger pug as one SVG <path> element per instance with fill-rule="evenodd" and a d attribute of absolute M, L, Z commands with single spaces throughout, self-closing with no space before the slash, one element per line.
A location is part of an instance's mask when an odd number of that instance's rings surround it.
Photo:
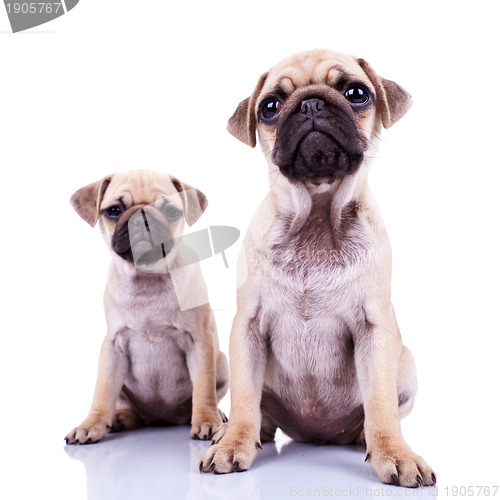
<path fill-rule="evenodd" d="M 194 347 L 187 355 L 189 375 L 193 383 L 193 414 L 191 438 L 210 439 L 222 425 L 222 416 L 217 409 L 217 334 L 214 319 L 207 307 L 197 328 L 199 334 L 193 338 Z"/>

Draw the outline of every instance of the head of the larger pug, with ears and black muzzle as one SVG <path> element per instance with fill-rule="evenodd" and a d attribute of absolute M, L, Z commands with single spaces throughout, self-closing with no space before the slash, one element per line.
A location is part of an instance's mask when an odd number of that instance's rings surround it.
<path fill-rule="evenodd" d="M 228 130 L 292 183 L 333 183 L 376 150 L 381 126 L 411 106 L 410 95 L 363 59 L 328 50 L 295 54 L 262 75 Z"/>

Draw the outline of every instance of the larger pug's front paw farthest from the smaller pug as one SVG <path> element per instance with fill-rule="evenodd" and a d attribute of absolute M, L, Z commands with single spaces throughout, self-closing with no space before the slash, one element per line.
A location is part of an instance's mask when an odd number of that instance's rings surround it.
<path fill-rule="evenodd" d="M 436 475 L 431 467 L 406 444 L 368 451 L 367 460 L 383 483 L 407 488 L 436 485 Z"/>

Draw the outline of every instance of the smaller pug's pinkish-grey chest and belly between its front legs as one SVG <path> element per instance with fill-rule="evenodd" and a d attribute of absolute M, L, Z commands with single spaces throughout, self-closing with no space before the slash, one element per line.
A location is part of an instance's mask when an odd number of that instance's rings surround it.
<path fill-rule="evenodd" d="M 128 360 L 123 390 L 130 404 L 143 418 L 176 422 L 179 405 L 192 392 L 187 357 L 194 348 L 193 325 L 168 290 L 149 292 L 117 308 L 121 326 L 113 349 Z"/>

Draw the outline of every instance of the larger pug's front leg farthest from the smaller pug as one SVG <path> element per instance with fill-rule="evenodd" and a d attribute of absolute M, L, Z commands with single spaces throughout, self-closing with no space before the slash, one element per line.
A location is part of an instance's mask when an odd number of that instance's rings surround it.
<path fill-rule="evenodd" d="M 398 411 L 398 367 L 403 346 L 389 306 L 371 325 L 355 334 L 356 371 L 365 411 L 367 460 L 387 484 L 431 486 L 436 477 L 406 444 Z"/>

